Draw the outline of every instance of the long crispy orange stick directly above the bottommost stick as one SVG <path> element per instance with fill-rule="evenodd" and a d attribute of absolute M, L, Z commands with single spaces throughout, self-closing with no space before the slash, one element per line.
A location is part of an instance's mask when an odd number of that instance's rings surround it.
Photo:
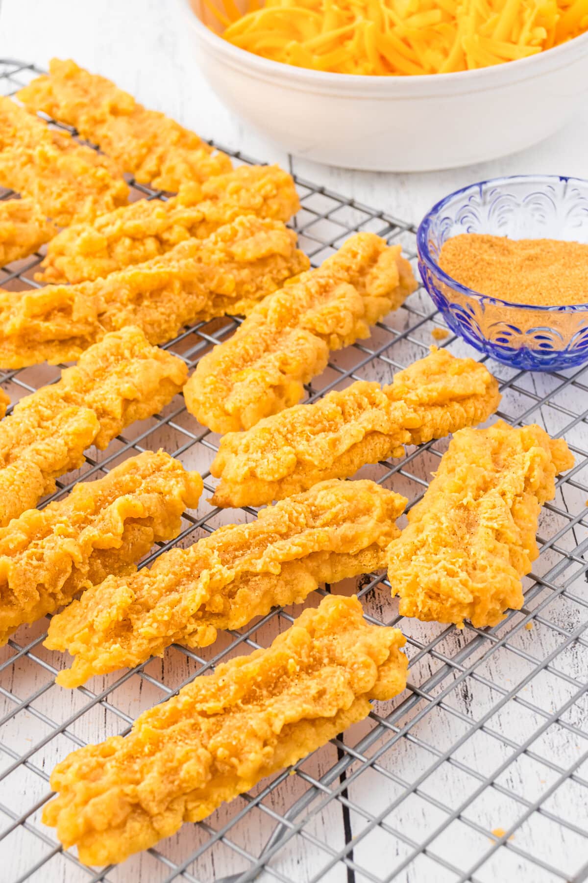
<path fill-rule="evenodd" d="M 51 620 L 45 645 L 75 656 L 57 683 L 77 687 L 170 644 L 212 644 L 217 630 L 301 603 L 321 583 L 382 568 L 405 506 L 373 481 L 324 481 L 251 524 L 171 549 L 150 570 L 108 577 Z"/>

